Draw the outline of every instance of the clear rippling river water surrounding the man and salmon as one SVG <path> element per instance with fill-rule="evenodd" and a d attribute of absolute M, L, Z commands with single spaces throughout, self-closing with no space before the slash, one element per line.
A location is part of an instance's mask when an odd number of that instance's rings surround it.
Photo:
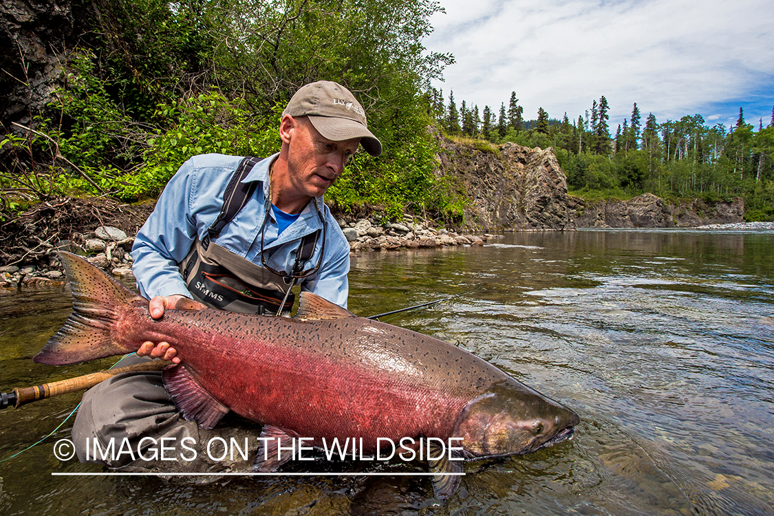
<path fill-rule="evenodd" d="M 2 514 L 774 514 L 774 231 L 505 234 L 483 248 L 353 258 L 358 315 L 457 344 L 580 414 L 574 439 L 427 477 L 55 477 L 79 395 L 0 413 Z M 111 365 L 31 357 L 65 288 L 0 294 L 0 389 Z M 389 402 L 385 400 L 385 403 Z M 419 463 L 352 466 L 421 472 Z"/>

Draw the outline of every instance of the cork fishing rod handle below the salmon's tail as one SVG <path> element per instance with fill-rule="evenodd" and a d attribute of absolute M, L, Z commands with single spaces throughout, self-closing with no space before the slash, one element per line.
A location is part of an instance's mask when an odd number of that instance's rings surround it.
<path fill-rule="evenodd" d="M 170 364 L 172 364 L 171 361 L 143 362 L 142 364 L 116 367 L 115 369 L 84 374 L 83 376 L 68 378 L 67 380 L 53 381 L 50 384 L 40 384 L 35 385 L 34 387 L 16 387 L 10 392 L 3 392 L 0 394 L 0 409 L 9 408 L 10 406 L 19 408 L 22 405 L 36 402 L 39 399 L 52 398 L 53 396 L 67 394 L 69 392 L 84 391 L 87 388 L 94 387 L 94 385 L 103 380 L 114 377 L 116 374 L 133 371 L 159 371 Z"/>

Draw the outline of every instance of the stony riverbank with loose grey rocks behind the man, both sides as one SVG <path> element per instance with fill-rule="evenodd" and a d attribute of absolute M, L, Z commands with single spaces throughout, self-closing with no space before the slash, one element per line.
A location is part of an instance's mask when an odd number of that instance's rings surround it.
<path fill-rule="evenodd" d="M 21 289 L 63 282 L 57 251 L 86 256 L 93 265 L 116 277 L 132 275 L 129 251 L 152 208 L 153 203 L 129 205 L 74 197 L 36 205 L 2 225 L 0 288 Z M 405 215 L 399 222 L 348 216 L 338 217 L 337 222 L 353 253 L 481 246 L 491 238 L 500 237 L 457 234 L 411 215 Z"/>

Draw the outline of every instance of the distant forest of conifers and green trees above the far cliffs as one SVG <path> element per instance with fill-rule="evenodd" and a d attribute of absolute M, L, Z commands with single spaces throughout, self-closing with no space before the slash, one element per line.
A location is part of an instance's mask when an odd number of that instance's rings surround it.
<path fill-rule="evenodd" d="M 454 91 L 445 98 L 431 88 L 427 95 L 433 118 L 452 138 L 553 148 L 571 195 L 587 200 L 625 200 L 646 192 L 666 199 L 742 197 L 746 220 L 774 220 L 774 108 L 765 127 L 762 120 L 757 127 L 748 124 L 739 108 L 735 125 L 726 128 L 707 125 L 700 114 L 659 123 L 650 113 L 643 121 L 634 103 L 631 117 L 611 135 L 604 95 L 572 121 L 567 113 L 561 120 L 549 118 L 543 108 L 525 120 L 515 91 L 507 108 L 505 102 L 497 112 L 485 106 L 480 115 L 478 105 L 464 100 L 458 108 Z"/>

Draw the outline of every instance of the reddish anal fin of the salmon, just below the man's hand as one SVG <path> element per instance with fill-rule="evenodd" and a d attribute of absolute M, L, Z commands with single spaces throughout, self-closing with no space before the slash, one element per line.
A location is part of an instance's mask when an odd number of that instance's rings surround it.
<path fill-rule="evenodd" d="M 228 413 L 228 407 L 218 402 L 183 365 L 167 367 L 161 378 L 175 406 L 189 421 L 211 429 Z"/>

